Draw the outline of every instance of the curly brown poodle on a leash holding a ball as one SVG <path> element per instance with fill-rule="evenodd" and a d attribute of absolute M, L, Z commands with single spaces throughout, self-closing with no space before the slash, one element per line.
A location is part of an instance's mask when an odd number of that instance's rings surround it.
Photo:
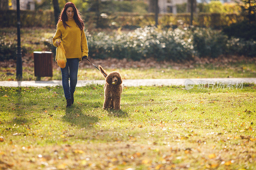
<path fill-rule="evenodd" d="M 107 74 L 100 65 L 99 69 L 106 80 L 106 84 L 104 85 L 103 109 L 114 108 L 115 110 L 119 110 L 121 107 L 121 93 L 123 91 L 122 77 L 120 73 L 116 71 Z"/>

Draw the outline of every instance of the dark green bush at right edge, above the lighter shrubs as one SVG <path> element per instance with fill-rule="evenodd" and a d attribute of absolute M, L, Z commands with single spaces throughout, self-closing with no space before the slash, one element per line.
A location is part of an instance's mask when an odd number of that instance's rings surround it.
<path fill-rule="evenodd" d="M 231 24 L 223 29 L 223 33 L 229 38 L 242 38 L 245 40 L 256 40 L 255 33 L 256 23 L 249 23 L 247 21 Z"/>

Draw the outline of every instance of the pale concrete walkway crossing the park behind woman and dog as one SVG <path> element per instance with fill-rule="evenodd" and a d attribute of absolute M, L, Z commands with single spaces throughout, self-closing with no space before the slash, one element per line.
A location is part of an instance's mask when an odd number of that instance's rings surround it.
<path fill-rule="evenodd" d="M 241 83 L 254 83 L 256 78 L 170 78 L 170 79 L 124 79 L 123 86 L 161 86 L 161 85 L 184 85 L 194 86 L 200 84 L 221 83 L 226 85 L 236 85 Z M 77 87 L 90 84 L 104 85 L 105 80 L 78 80 Z M 61 80 L 52 81 L 0 81 L 0 86 L 20 87 L 20 86 L 56 86 L 62 85 Z"/>

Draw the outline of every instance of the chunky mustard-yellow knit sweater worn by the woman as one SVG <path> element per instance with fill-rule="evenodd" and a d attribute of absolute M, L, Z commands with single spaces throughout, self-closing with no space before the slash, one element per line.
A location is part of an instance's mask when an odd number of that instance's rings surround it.
<path fill-rule="evenodd" d="M 84 30 L 80 30 L 76 26 L 74 19 L 68 20 L 66 23 L 70 26 L 67 26 L 66 29 L 62 20 L 57 24 L 57 31 L 52 38 L 52 43 L 55 47 L 58 47 L 56 41 L 61 40 L 66 51 L 66 58 L 79 58 L 81 60 L 82 56 L 88 56 L 88 45 Z"/>

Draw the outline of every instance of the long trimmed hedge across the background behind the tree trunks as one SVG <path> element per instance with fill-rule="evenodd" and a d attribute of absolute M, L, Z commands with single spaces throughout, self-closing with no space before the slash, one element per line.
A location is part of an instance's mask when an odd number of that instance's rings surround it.
<path fill-rule="evenodd" d="M 95 26 L 96 16 L 94 12 L 84 13 L 85 26 Z M 55 27 L 52 11 L 20 11 L 21 26 L 23 27 Z M 190 23 L 189 13 L 161 14 L 159 15 L 161 26 L 179 26 L 181 23 Z M 219 28 L 229 26 L 232 23 L 243 21 L 244 18 L 236 13 L 198 13 L 195 15 L 193 24 L 200 27 Z M 138 13 L 117 12 L 100 18 L 100 27 L 120 27 L 120 26 L 152 26 L 155 24 L 154 13 L 140 15 Z M 10 27 L 17 25 L 15 10 L 0 11 L 0 27 Z"/>

